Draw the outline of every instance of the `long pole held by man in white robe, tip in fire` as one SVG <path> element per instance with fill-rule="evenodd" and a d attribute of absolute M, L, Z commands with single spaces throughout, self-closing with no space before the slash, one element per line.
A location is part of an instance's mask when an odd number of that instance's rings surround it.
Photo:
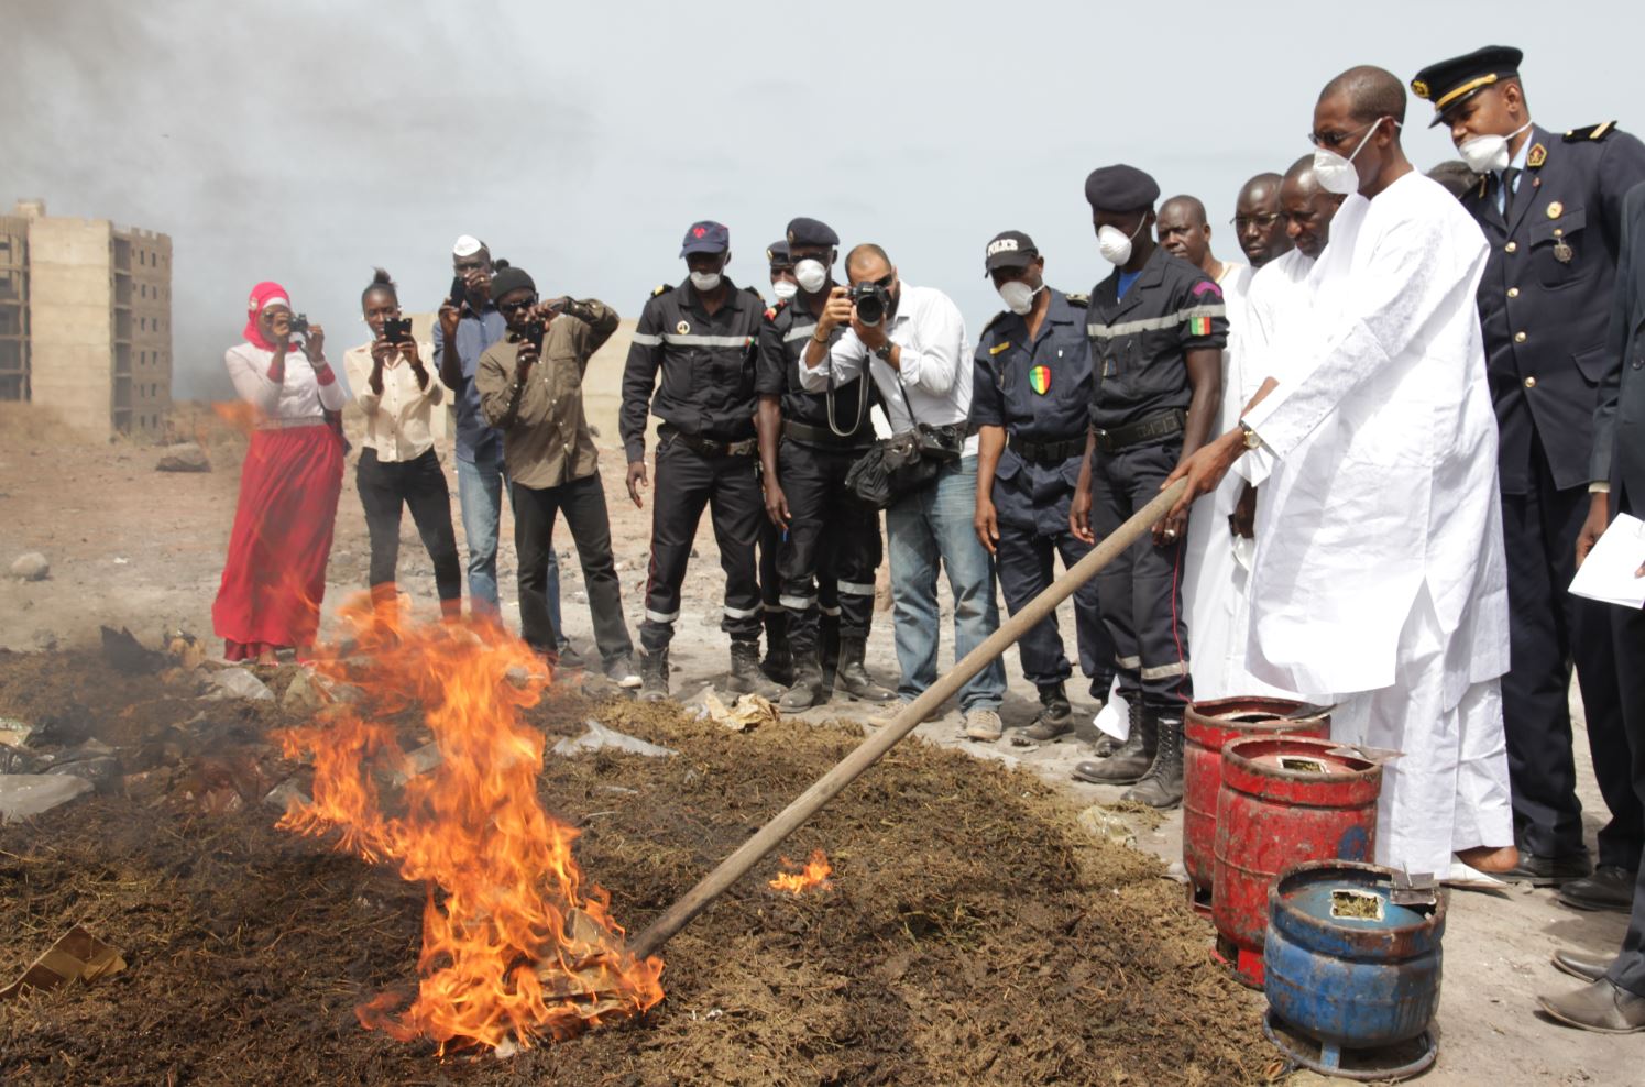
<path fill-rule="evenodd" d="M 946 702 L 966 684 L 967 679 L 987 668 L 994 658 L 1005 653 L 1005 650 L 1028 633 L 1035 623 L 1050 615 L 1058 604 L 1066 600 L 1076 589 L 1091 581 L 1097 571 L 1112 562 L 1122 551 L 1125 551 L 1125 548 L 1137 543 L 1143 533 L 1147 533 L 1156 521 L 1160 521 L 1160 518 L 1166 515 L 1166 511 L 1170 511 L 1184 487 L 1188 487 L 1188 480 L 1178 480 L 1168 490 L 1160 492 L 1153 502 L 1132 515 L 1128 521 L 1114 530 L 1107 539 L 1092 548 L 1086 557 L 1051 582 L 1051 585 L 1030 600 L 1023 610 L 1012 615 L 1003 625 L 1000 625 L 999 630 L 989 635 L 982 645 L 967 653 L 964 659 L 957 661 L 948 673 L 939 676 L 934 684 L 926 687 L 924 694 L 915 699 L 906 709 L 903 709 L 901 714 L 893 717 L 888 725 L 864 740 L 855 750 L 852 750 L 850 755 L 842 758 L 839 765 L 818 778 L 809 789 L 795 798 L 795 801 L 778 812 L 776 817 L 760 827 L 753 837 L 739 845 L 730 857 L 722 860 L 719 867 L 714 868 L 714 872 L 702 877 L 702 881 L 686 891 L 684 896 L 681 896 L 673 906 L 665 909 L 663 914 L 651 923 L 651 927 L 640 932 L 637 939 L 630 941 L 628 951 L 643 959 L 666 944 L 674 932 L 686 927 L 686 924 L 702 913 L 711 901 L 725 893 L 732 883 L 740 880 L 750 868 L 760 863 L 767 853 L 781 845 L 783 839 L 798 830 L 808 819 L 811 819 L 811 816 L 818 814 L 824 804 L 839 796 L 847 784 L 862 776 L 869 766 L 880 761 L 880 758 L 888 750 L 897 747 L 903 737 L 920 727 L 920 722 L 926 719 L 926 714 Z"/>

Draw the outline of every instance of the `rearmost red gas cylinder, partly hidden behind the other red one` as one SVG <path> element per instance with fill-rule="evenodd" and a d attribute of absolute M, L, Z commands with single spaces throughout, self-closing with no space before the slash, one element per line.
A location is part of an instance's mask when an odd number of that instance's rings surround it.
<path fill-rule="evenodd" d="M 1304 704 L 1258 696 L 1194 702 L 1183 719 L 1183 867 L 1196 911 L 1211 913 L 1222 745 L 1244 737 L 1329 737 L 1328 714 L 1281 720 Z"/>

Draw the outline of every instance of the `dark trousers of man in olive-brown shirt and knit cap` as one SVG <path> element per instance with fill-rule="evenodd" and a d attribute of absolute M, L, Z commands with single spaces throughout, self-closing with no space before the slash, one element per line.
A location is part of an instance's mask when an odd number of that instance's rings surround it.
<path fill-rule="evenodd" d="M 577 544 L 582 585 L 594 617 L 594 645 L 605 663 L 633 653 L 622 617 L 617 564 L 612 562 L 612 526 L 605 511 L 605 485 L 599 472 L 559 487 L 513 483 L 515 554 L 520 559 L 520 633 L 538 653 L 556 650 L 561 631 L 548 612 L 548 559 L 554 553 L 554 518 L 566 515 Z"/>

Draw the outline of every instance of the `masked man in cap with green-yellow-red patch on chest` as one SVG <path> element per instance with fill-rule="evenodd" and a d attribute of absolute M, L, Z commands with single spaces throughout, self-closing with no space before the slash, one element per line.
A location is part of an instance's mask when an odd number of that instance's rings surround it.
<path fill-rule="evenodd" d="M 1022 230 L 989 242 L 984 273 L 1002 309 L 982 329 L 971 380 L 977 432 L 977 539 L 994 553 L 1005 608 L 1015 615 L 1091 544 L 1068 526 L 1068 508 L 1091 428 L 1091 340 L 1084 294 L 1045 281 L 1045 257 Z M 1074 590 L 1079 671 L 1101 704 L 1114 684 L 1114 640 L 1102 625 L 1097 582 Z M 1054 613 L 1017 641 L 1023 676 L 1040 691 L 1040 715 L 1018 735 L 1046 742 L 1074 730 L 1073 676 Z"/>

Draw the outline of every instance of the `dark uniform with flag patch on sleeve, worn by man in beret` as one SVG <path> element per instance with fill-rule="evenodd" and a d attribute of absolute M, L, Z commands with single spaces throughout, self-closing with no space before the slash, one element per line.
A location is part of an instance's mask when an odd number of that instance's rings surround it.
<path fill-rule="evenodd" d="M 1183 454 L 1193 386 L 1188 352 L 1227 344 L 1222 289 L 1194 265 L 1156 248 L 1119 296 L 1120 271 L 1091 291 L 1091 531 L 1101 539 L 1160 493 Z M 1183 546 L 1143 536 L 1097 574 L 1114 638 L 1119 692 L 1181 719 L 1193 701 L 1183 622 Z"/>

